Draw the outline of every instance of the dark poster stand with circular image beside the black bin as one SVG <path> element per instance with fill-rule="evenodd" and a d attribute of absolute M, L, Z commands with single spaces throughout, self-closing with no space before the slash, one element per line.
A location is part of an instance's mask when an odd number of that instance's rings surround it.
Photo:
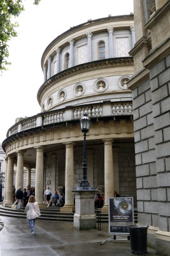
<path fill-rule="evenodd" d="M 106 241 L 129 241 L 130 233 L 128 226 L 134 225 L 134 207 L 132 197 L 111 197 L 109 198 L 109 234 L 113 234 L 113 238 Z M 127 236 L 127 239 L 118 238 L 117 236 Z"/>

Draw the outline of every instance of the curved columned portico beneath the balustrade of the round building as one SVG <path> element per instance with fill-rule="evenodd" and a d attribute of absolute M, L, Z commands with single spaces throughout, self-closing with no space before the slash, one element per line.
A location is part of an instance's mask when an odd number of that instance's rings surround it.
<path fill-rule="evenodd" d="M 92 118 L 87 133 L 87 179 L 90 186 L 99 186 L 101 194 L 105 194 L 103 211 L 108 211 L 107 198 L 113 196 L 114 190 L 121 196 L 134 196 L 136 201 L 132 120 L 130 116 L 114 119 Z M 6 143 L 8 164 L 4 205 L 13 203 L 13 165 L 17 164 L 16 188 L 23 188 L 24 166 L 27 167 L 27 182 L 31 180 L 31 168 L 36 168 L 39 206 L 44 207 L 46 186 L 50 187 L 52 195 L 55 190 L 65 187 L 66 202 L 62 211 L 71 212 L 74 209 L 71 190 L 79 186 L 83 177 L 83 134 L 79 120 L 32 131 L 24 136 L 13 136 L 9 147 Z"/>

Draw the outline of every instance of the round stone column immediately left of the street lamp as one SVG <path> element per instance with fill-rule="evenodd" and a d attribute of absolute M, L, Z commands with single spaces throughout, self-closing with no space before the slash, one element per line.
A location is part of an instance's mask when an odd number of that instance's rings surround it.
<path fill-rule="evenodd" d="M 61 212 L 73 212 L 74 195 L 71 191 L 74 189 L 74 157 L 73 143 L 66 144 L 66 175 L 65 175 L 65 205 L 60 208 Z"/>

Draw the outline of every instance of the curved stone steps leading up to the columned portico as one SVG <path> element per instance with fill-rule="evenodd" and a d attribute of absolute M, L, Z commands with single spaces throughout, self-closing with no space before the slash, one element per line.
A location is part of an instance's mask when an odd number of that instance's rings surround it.
<path fill-rule="evenodd" d="M 60 207 L 52 206 L 50 208 L 40 209 L 41 218 L 39 220 L 53 220 L 53 221 L 73 221 L 74 212 L 60 212 Z M 98 222 L 98 214 L 96 211 L 96 221 Z M 0 205 L 0 216 L 12 218 L 26 218 L 24 208 L 20 211 L 11 209 L 11 206 L 3 207 Z M 108 222 L 108 213 L 101 213 L 101 223 Z M 138 223 L 138 212 L 134 211 L 134 223 Z"/>

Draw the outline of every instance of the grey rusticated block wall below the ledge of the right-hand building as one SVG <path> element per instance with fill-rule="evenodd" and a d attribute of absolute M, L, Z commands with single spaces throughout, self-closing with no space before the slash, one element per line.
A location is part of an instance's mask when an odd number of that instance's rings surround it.
<path fill-rule="evenodd" d="M 164 231 L 170 231 L 169 65 L 168 56 L 132 91 L 138 222 Z"/>

